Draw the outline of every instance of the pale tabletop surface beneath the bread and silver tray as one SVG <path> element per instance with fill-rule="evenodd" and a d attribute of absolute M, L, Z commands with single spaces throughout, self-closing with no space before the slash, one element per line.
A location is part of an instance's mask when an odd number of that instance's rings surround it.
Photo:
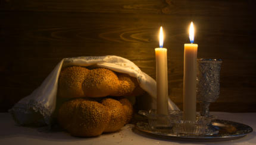
<path fill-rule="evenodd" d="M 133 124 L 127 124 L 116 133 L 79 138 L 72 137 L 63 131 L 49 132 L 46 127 L 21 127 L 14 123 L 10 114 L 0 113 L 0 144 L 256 144 L 256 113 L 211 112 L 211 114 L 216 115 L 219 119 L 249 125 L 254 131 L 245 137 L 234 140 L 204 142 L 155 138 L 133 129 Z"/>

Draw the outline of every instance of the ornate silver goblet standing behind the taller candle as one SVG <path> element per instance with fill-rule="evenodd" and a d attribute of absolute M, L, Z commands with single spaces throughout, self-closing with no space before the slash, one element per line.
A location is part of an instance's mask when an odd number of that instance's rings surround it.
<path fill-rule="evenodd" d="M 209 117 L 209 106 L 220 94 L 221 59 L 198 59 L 196 100 L 201 116 Z"/>

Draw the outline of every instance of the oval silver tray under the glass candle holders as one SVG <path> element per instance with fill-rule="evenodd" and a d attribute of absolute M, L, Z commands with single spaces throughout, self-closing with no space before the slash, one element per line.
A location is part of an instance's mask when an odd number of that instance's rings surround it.
<path fill-rule="evenodd" d="M 252 132 L 252 128 L 248 125 L 236 123 L 227 120 L 213 120 L 213 127 L 217 128 L 218 134 L 212 136 L 193 136 L 191 134 L 175 134 L 171 133 L 171 130 L 154 130 L 149 127 L 148 123 L 139 122 L 136 123 L 135 128 L 143 133 L 153 135 L 161 138 L 176 138 L 182 140 L 233 140 L 235 138 L 240 138 L 246 136 L 246 134 Z"/>

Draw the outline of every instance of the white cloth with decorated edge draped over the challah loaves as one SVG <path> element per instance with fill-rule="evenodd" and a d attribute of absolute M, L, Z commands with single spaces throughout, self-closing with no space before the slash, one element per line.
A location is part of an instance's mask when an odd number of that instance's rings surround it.
<path fill-rule="evenodd" d="M 58 77 L 62 67 L 66 66 L 92 66 L 104 67 L 115 72 L 127 73 L 137 78 L 141 88 L 153 97 L 152 108 L 156 108 L 156 82 L 146 73 L 142 72 L 130 60 L 118 56 L 88 56 L 65 58 L 52 70 L 35 91 L 21 99 L 10 109 L 14 120 L 21 125 L 50 124 L 51 115 L 56 107 Z M 179 109 L 170 99 L 169 109 Z"/>

